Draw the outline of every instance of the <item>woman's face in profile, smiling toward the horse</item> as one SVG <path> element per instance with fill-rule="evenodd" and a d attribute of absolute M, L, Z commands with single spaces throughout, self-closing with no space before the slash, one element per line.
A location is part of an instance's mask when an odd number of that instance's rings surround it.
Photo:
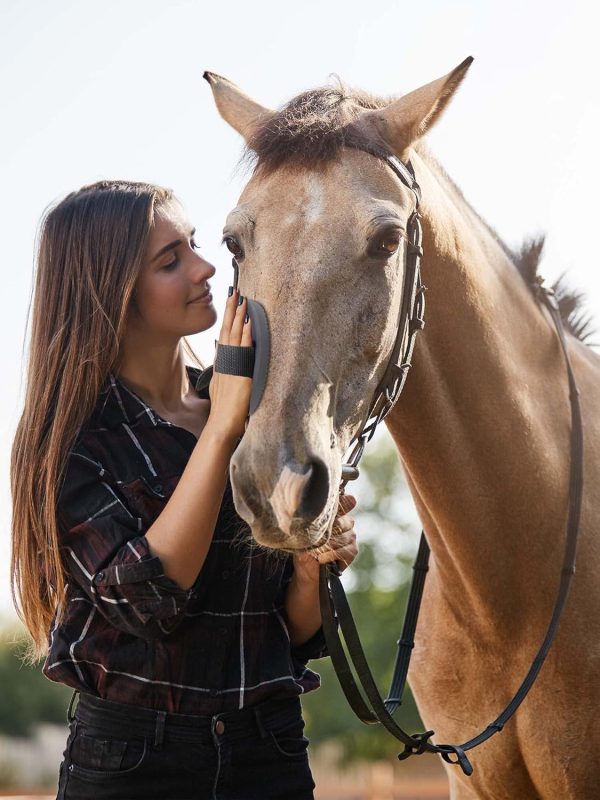
<path fill-rule="evenodd" d="M 198 298 L 216 270 L 196 251 L 193 235 L 177 200 L 156 210 L 128 320 L 138 333 L 177 340 L 215 324 L 212 295 Z"/>

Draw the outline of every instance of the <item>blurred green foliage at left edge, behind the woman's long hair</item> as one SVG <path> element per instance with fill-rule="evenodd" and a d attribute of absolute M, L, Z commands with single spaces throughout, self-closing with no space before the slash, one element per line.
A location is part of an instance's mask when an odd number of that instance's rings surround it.
<path fill-rule="evenodd" d="M 45 678 L 39 664 L 25 665 L 14 638 L 0 638 L 0 733 L 27 736 L 38 722 L 66 724 L 71 690 Z"/>

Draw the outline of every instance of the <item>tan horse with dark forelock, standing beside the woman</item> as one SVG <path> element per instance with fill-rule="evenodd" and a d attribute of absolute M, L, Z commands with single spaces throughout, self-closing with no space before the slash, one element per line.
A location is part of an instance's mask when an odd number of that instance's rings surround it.
<path fill-rule="evenodd" d="M 264 394 L 230 467 L 259 544 L 326 540 L 344 453 L 395 341 L 415 199 L 361 148 L 410 161 L 421 188 L 427 321 L 385 423 L 431 547 L 409 680 L 440 741 L 475 735 L 529 668 L 560 579 L 569 493 L 565 362 L 530 288 L 543 238 L 509 248 L 424 141 L 471 61 L 391 101 L 340 83 L 279 111 L 204 76 L 252 167 L 224 241 L 270 326 Z M 472 777 L 445 765 L 453 800 L 582 800 L 600 786 L 600 357 L 572 301 L 563 291 L 584 424 L 577 572 L 515 717 L 473 751 Z"/>

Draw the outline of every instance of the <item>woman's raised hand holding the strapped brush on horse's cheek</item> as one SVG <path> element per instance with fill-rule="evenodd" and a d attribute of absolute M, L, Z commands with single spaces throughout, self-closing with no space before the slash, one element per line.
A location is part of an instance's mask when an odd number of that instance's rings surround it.
<path fill-rule="evenodd" d="M 252 347 L 251 322 L 244 321 L 248 303 L 245 297 L 240 305 L 238 300 L 239 291 L 234 289 L 225 305 L 219 343 Z M 252 378 L 213 372 L 208 387 L 210 414 L 207 424 L 210 423 L 213 429 L 216 428 L 224 436 L 236 439 L 243 436 L 250 408 L 251 391 Z"/>

